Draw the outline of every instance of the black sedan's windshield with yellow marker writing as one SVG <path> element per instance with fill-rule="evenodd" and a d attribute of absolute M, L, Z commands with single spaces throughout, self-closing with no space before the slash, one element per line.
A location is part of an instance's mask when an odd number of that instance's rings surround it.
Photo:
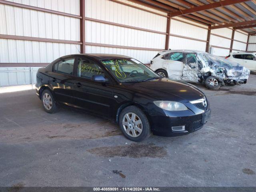
<path fill-rule="evenodd" d="M 160 78 L 144 64 L 133 58 L 104 59 L 101 62 L 119 82 L 141 82 Z"/>

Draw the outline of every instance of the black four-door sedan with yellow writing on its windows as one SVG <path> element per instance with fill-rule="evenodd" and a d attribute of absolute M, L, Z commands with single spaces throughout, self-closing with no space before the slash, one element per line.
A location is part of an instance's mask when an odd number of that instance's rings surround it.
<path fill-rule="evenodd" d="M 44 110 L 60 104 L 117 122 L 128 139 L 153 134 L 180 136 L 202 128 L 209 103 L 190 84 L 158 76 L 128 56 L 74 54 L 54 60 L 36 75 Z"/>

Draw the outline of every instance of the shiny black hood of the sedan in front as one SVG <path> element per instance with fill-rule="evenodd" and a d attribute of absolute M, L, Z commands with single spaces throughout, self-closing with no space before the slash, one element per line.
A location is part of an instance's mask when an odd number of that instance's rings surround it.
<path fill-rule="evenodd" d="M 126 88 L 157 100 L 188 102 L 204 97 L 204 93 L 193 85 L 161 78 L 134 84 L 125 84 Z"/>

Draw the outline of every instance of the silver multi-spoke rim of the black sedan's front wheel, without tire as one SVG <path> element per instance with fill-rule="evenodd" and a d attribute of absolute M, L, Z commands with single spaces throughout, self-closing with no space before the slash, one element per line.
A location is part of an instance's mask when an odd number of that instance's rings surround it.
<path fill-rule="evenodd" d="M 135 113 L 126 113 L 123 117 L 122 125 L 126 134 L 131 137 L 138 137 L 142 133 L 142 121 Z"/>

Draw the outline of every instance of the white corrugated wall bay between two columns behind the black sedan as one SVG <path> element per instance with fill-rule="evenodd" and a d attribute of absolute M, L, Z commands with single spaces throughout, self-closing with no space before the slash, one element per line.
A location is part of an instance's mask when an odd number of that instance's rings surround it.
<path fill-rule="evenodd" d="M 136 4 L 133 3 L 133 5 Z M 86 0 L 85 12 L 86 17 L 88 18 L 166 32 L 166 17 L 109 0 Z M 86 20 L 85 28 L 86 42 L 157 49 L 164 49 L 165 46 L 166 36 L 164 34 L 113 26 L 88 20 Z M 88 45 L 86 46 L 86 52 L 124 54 L 134 57 L 143 63 L 149 63 L 150 59 L 153 58 L 158 51 Z"/>

